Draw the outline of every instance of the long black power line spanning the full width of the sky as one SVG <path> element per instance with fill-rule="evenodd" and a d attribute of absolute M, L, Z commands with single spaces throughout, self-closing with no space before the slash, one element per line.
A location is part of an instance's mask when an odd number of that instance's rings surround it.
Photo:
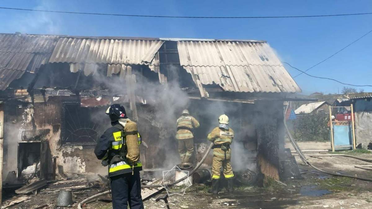
<path fill-rule="evenodd" d="M 0 9 L 24 10 L 33 12 L 54 12 L 54 13 L 68 13 L 80 15 L 107 15 L 107 16 L 126 16 L 126 17 L 164 17 L 164 18 L 205 18 L 205 19 L 248 19 L 248 18 L 299 18 L 299 17 L 335 17 L 335 16 L 352 16 L 352 15 L 372 15 L 372 12 L 367 13 L 352 13 L 352 14 L 336 14 L 336 15 L 304 15 L 304 16 L 235 16 L 235 17 L 211 17 L 211 16 L 160 16 L 160 15 L 124 15 L 124 14 L 109 14 L 109 13 L 92 13 L 92 12 L 68 12 L 57 10 L 41 10 L 41 9 L 22 9 L 11 7 L 0 7 Z"/>

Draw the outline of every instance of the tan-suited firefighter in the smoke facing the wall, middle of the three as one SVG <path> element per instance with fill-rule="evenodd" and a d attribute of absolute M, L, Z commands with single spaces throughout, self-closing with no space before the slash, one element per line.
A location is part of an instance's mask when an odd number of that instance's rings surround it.
<path fill-rule="evenodd" d="M 189 163 L 194 152 L 193 129 L 199 128 L 199 122 L 190 115 L 189 110 L 183 110 L 181 117 L 177 119 L 178 152 L 182 163 Z"/>

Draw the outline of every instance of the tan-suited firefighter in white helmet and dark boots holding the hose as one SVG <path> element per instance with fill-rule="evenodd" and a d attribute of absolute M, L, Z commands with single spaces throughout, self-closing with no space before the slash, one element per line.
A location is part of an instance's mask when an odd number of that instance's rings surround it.
<path fill-rule="evenodd" d="M 224 170 L 224 176 L 227 180 L 228 192 L 233 191 L 233 178 L 232 168 L 230 164 L 231 159 L 231 142 L 234 138 L 234 131 L 228 126 L 229 118 L 227 115 L 221 115 L 218 118 L 219 126 L 214 128 L 210 134 L 208 134 L 208 140 L 213 145 L 213 164 L 212 164 L 212 189 L 209 191 L 217 195 L 218 193 L 218 181 L 220 179 L 221 167 Z"/>

